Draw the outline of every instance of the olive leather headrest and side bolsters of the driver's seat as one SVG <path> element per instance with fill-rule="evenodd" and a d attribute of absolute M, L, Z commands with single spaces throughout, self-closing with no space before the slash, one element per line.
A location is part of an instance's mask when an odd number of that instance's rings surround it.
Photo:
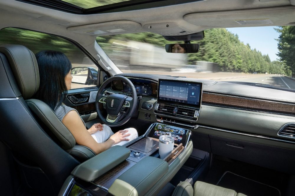
<path fill-rule="evenodd" d="M 7 44 L 0 46 L 0 53 L 5 55 L 4 61 L 8 60 L 6 63 L 9 64 L 16 81 L 16 84 L 11 83 L 14 97 L 22 96 L 27 99 L 26 103 L 32 112 L 55 135 L 61 147 L 68 150 L 73 157 L 80 161 L 93 157 L 95 153 L 88 147 L 75 147 L 75 138 L 47 104 L 37 99 L 30 99 L 37 92 L 40 84 L 37 60 L 33 52 L 22 45 Z"/>

